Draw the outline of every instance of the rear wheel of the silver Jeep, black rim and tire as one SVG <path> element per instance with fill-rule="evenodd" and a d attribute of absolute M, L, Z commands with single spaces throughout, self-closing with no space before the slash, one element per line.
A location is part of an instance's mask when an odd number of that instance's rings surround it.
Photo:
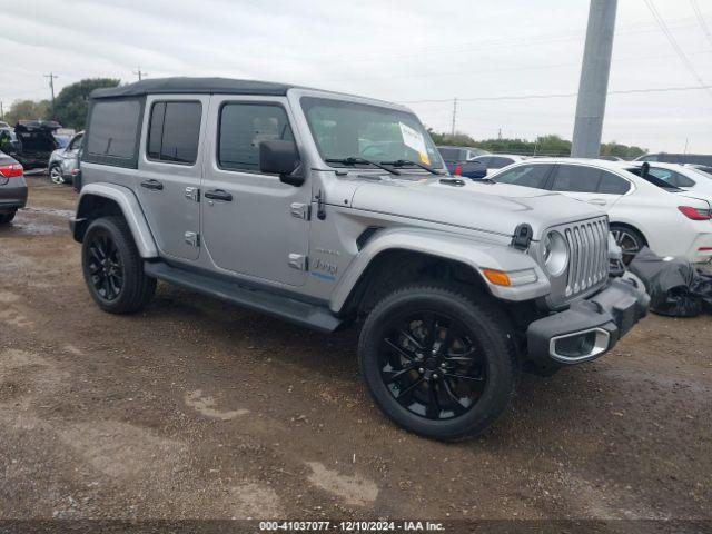
<path fill-rule="evenodd" d="M 89 225 L 81 266 L 89 294 L 110 314 L 139 312 L 156 291 L 156 279 L 144 273 L 144 260 L 122 217 L 102 217 Z"/>

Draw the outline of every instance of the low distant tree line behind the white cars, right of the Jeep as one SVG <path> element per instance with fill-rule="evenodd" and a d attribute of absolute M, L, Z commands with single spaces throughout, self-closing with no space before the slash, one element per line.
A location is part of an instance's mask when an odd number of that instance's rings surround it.
<path fill-rule="evenodd" d="M 571 155 L 571 141 L 562 139 L 560 136 L 555 135 L 538 136 L 533 141 L 521 138 L 495 138 L 476 141 L 466 134 L 456 132 L 453 136 L 449 134 L 439 134 L 429 128 L 428 132 L 436 145 L 482 148 L 490 152 L 521 154 L 522 156 Z M 621 145 L 615 141 L 604 142 L 601 145 L 601 156 L 617 156 L 619 158 L 630 159 L 636 158 L 646 152 L 647 149 L 645 148 Z"/>

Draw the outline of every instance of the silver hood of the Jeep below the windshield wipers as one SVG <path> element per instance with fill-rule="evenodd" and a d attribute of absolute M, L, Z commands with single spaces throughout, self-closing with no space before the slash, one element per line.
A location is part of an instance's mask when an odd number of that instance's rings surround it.
<path fill-rule="evenodd" d="M 513 235 L 520 224 L 527 222 L 535 239 L 552 226 L 605 215 L 590 204 L 541 189 L 472 180 L 452 186 L 441 181 L 446 177 L 422 175 L 411 178 L 414 180 L 399 177 L 364 180 L 352 206 L 504 236 Z"/>

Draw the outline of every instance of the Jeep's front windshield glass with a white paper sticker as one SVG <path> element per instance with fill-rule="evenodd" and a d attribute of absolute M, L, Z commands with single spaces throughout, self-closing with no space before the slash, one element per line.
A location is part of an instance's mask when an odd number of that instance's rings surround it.
<path fill-rule="evenodd" d="M 413 113 L 312 97 L 304 97 L 301 107 L 324 160 L 409 160 L 434 169 L 443 168 L 439 152 L 431 136 Z M 338 162 L 329 165 L 344 166 Z M 417 170 L 417 167 L 413 168 Z"/>

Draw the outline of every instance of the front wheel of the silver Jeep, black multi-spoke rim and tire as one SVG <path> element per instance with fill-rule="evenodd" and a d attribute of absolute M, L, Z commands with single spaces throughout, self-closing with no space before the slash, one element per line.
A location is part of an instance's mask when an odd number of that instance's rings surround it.
<path fill-rule="evenodd" d="M 514 392 L 516 355 L 506 317 L 439 286 L 386 296 L 360 333 L 359 365 L 374 400 L 396 424 L 451 441 L 485 431 Z"/>

